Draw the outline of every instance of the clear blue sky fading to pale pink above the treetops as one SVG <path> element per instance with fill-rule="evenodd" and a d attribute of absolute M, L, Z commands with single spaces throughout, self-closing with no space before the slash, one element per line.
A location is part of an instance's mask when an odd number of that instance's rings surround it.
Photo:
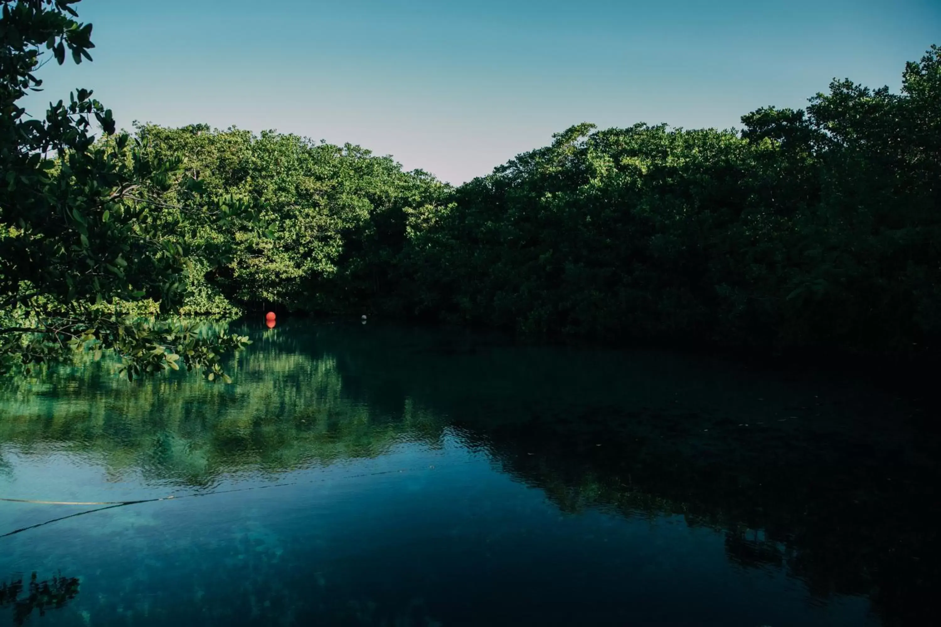
<path fill-rule="evenodd" d="M 120 127 L 274 129 L 391 154 L 459 184 L 552 133 L 741 128 L 834 78 L 901 86 L 941 44 L 939 0 L 82 0 L 93 63 L 55 62 L 27 109 L 94 89 Z"/>

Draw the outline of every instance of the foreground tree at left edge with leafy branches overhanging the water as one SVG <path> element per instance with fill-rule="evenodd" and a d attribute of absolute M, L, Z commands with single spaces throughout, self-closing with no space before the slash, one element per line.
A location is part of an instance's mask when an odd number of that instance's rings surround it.
<path fill-rule="evenodd" d="M 126 304 L 150 298 L 158 313 L 173 312 L 192 233 L 240 219 L 247 203 L 208 197 L 179 156 L 157 159 L 139 138 L 116 133 L 111 111 L 87 89 L 51 103 L 44 119 L 19 105 L 40 90 L 43 55 L 59 65 L 67 54 L 91 60 L 91 24 L 73 19 L 78 1 L 0 0 L 0 368 L 85 346 L 116 350 L 129 378 L 183 364 L 228 379 L 219 355 L 246 337 L 136 320 Z M 164 201 L 170 190 L 175 203 Z"/>

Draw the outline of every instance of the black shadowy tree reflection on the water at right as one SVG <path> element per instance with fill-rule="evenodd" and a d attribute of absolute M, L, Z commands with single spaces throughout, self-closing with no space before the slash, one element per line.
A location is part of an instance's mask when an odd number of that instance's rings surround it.
<path fill-rule="evenodd" d="M 731 562 L 784 566 L 821 601 L 868 595 L 886 625 L 932 615 L 941 476 L 923 404 L 838 376 L 414 333 L 359 351 L 344 337 L 339 369 L 364 395 L 398 372 L 403 395 L 560 509 L 678 514 L 722 529 Z"/>

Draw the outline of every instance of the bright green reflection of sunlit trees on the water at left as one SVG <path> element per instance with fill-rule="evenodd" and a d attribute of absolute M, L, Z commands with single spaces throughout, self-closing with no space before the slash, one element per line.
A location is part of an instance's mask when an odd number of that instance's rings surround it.
<path fill-rule="evenodd" d="M 27 453 L 53 446 L 88 454 L 114 478 L 140 472 L 200 487 L 233 474 L 375 457 L 403 437 L 434 446 L 441 436 L 407 402 L 379 413 L 351 400 L 328 354 L 256 341 L 231 371 L 238 383 L 228 386 L 185 376 L 127 384 L 88 364 L 44 384 L 8 385 L 0 442 Z"/>

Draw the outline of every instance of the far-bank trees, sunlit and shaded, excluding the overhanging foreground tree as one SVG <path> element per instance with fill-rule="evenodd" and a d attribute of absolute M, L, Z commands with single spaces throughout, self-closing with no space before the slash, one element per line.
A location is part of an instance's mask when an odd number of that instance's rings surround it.
<path fill-rule="evenodd" d="M 933 47 L 901 94 L 835 81 L 741 133 L 580 124 L 457 189 L 294 135 L 138 136 L 265 207 L 267 239 L 206 231 L 234 252 L 199 290 L 234 305 L 885 355 L 941 331 L 939 120 Z"/>

